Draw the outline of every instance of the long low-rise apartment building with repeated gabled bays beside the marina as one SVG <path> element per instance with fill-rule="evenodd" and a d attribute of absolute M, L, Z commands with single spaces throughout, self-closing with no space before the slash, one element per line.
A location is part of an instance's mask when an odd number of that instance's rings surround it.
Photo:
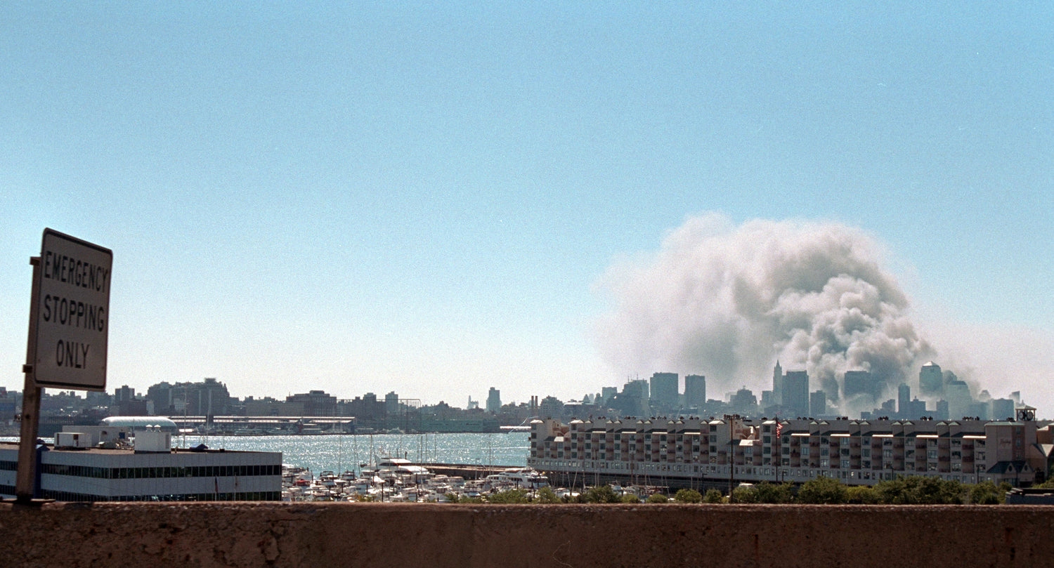
<path fill-rule="evenodd" d="M 1046 477 L 1051 427 L 1035 420 L 599 418 L 532 423 L 528 465 L 592 484 L 875 485 L 898 475 L 1027 487 Z"/>

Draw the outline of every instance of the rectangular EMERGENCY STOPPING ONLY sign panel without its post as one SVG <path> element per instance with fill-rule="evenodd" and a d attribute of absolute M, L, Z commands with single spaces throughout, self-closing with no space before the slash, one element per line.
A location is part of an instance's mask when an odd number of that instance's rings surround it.
<path fill-rule="evenodd" d="M 38 387 L 106 388 L 110 249 L 44 229 L 37 280 Z"/>

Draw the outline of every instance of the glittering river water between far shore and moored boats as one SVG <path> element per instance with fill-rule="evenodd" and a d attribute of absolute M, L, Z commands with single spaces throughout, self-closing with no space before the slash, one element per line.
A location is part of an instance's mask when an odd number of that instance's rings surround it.
<path fill-rule="evenodd" d="M 317 436 L 174 436 L 173 444 L 228 450 L 281 452 L 281 462 L 314 473 L 354 470 L 371 454 L 415 463 L 523 467 L 527 432 L 495 434 L 347 434 Z"/>

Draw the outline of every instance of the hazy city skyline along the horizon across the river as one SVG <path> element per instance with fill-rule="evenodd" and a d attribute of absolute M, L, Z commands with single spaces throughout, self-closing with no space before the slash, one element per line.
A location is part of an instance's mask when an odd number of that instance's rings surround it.
<path fill-rule="evenodd" d="M 711 393 L 707 396 L 706 377 L 689 374 L 680 377 L 678 373 L 656 372 L 650 378 L 627 379 L 621 390 L 618 387 L 601 387 L 596 392 L 584 393 L 579 399 L 562 400 L 551 394 L 532 395 L 529 401 L 502 400 L 501 391 L 488 388 L 486 406 L 472 399 L 472 393 L 462 393 L 467 404 L 462 407 L 456 400 L 440 400 L 437 404 L 423 401 L 411 393 L 389 391 L 384 395 L 368 391 L 352 396 L 334 396 L 321 389 L 304 386 L 306 392 L 290 392 L 282 397 L 247 395 L 231 396 L 227 386 L 215 377 L 200 381 L 170 384 L 161 381 L 151 385 L 145 391 L 136 392 L 130 386 L 114 388 L 113 395 L 82 397 L 76 391 L 56 391 L 53 397 L 45 393 L 45 399 L 65 400 L 67 404 L 51 403 L 47 414 L 59 411 L 70 416 L 81 411 L 98 414 L 98 407 L 110 407 L 109 412 L 117 415 L 164 415 L 177 416 L 188 412 L 194 416 L 357 416 L 372 419 L 379 404 L 388 412 L 402 405 L 408 408 L 444 407 L 466 411 L 483 411 L 502 414 L 504 410 L 528 409 L 526 414 L 518 411 L 514 422 L 523 422 L 531 416 L 584 418 L 602 414 L 619 416 L 696 415 L 720 416 L 742 415 L 746 417 L 816 417 L 820 418 L 884 418 L 890 419 L 979 419 L 994 420 L 1015 416 L 1019 410 L 1030 410 L 1033 416 L 1043 419 L 1046 408 L 1036 408 L 1023 400 L 1020 391 L 1012 391 L 1009 396 L 993 396 L 988 390 L 976 390 L 962 381 L 951 370 L 941 370 L 934 361 L 928 361 L 918 373 L 917 381 L 901 383 L 895 391 L 885 386 L 882 377 L 868 371 L 846 371 L 842 383 L 835 392 L 816 386 L 808 373 L 788 369 L 784 372 L 777 363 L 773 369 L 772 389 L 760 392 L 760 398 L 743 386 L 723 396 Z M 684 388 L 680 388 L 683 384 Z M 95 393 L 103 394 L 103 393 Z M 913 396 L 914 394 L 914 396 Z M 72 395 L 72 397 L 70 396 Z M 921 396 L 921 398 L 919 398 Z M 7 399 L 8 393 L 0 388 L 0 399 Z M 76 401 L 78 400 L 79 401 Z M 539 400 L 541 399 L 541 404 Z M 57 406 L 56 406 L 57 405 Z M 189 406 L 188 406 L 189 405 Z M 89 410 L 91 409 L 91 410 Z M 15 408 L 8 409 L 15 412 Z M 547 414 L 548 413 L 548 414 Z"/>

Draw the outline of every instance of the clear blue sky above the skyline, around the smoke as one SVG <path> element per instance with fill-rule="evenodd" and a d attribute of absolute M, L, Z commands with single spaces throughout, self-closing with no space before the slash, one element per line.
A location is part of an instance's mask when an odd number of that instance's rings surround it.
<path fill-rule="evenodd" d="M 1041 2 L 2 4 L 0 386 L 21 388 L 44 227 L 114 250 L 111 391 L 621 386 L 662 369 L 601 356 L 598 281 L 706 212 L 859 228 L 919 318 L 1049 353 L 1052 23 Z"/>

